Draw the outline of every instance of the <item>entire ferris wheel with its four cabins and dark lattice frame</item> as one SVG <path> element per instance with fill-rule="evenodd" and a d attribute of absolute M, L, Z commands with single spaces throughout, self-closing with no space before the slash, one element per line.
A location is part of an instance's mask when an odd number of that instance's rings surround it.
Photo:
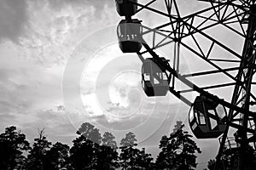
<path fill-rule="evenodd" d="M 250 144 L 256 149 L 256 1 L 197 0 L 202 8 L 185 14 L 179 6 L 181 1 L 176 0 L 115 2 L 118 14 L 125 17 L 117 27 L 119 48 L 123 53 L 137 53 L 142 60 L 145 94 L 153 97 L 171 92 L 191 106 L 189 126 L 195 137 L 221 139 L 216 169 L 227 150 L 237 154 L 234 169 L 246 169 L 246 147 Z M 161 3 L 165 10 L 154 3 Z M 143 19 L 133 19 L 143 11 L 150 17 L 162 17 L 163 23 L 154 28 L 143 26 Z M 148 35 L 152 37 L 150 42 L 145 38 Z M 155 52 L 164 46 L 173 49 L 169 56 L 172 64 Z M 199 71 L 183 73 L 183 50 L 195 57 L 191 65 L 201 67 Z M 196 59 L 201 64 L 196 64 Z M 198 77 L 201 81 L 196 81 Z M 206 86 L 201 83 L 204 80 L 211 80 L 212 84 Z M 186 88 L 178 88 L 176 82 Z M 198 96 L 193 102 L 186 98 L 186 94 L 195 92 Z M 230 128 L 235 129 L 235 148 L 225 146 Z"/>

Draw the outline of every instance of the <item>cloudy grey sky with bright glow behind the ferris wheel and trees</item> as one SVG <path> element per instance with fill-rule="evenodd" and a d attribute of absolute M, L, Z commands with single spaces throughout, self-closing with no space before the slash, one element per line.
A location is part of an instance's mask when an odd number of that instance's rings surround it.
<path fill-rule="evenodd" d="M 163 2 L 155 8 L 163 8 Z M 172 132 L 176 121 L 183 121 L 191 133 L 189 106 L 172 94 L 143 94 L 141 61 L 118 47 L 115 31 L 122 18 L 114 1 L 0 3 L 0 131 L 15 125 L 32 142 L 45 128 L 50 141 L 72 144 L 79 126 L 91 122 L 101 133 L 113 133 L 118 142 L 125 133 L 135 133 L 139 146 L 153 156 L 161 136 Z M 206 6 L 189 0 L 179 5 L 183 14 Z M 137 18 L 148 27 L 166 21 L 148 11 Z M 168 48 L 157 53 L 169 58 L 172 54 Z M 181 51 L 182 71 L 198 70 L 186 55 Z M 212 78 L 206 80 L 206 85 L 212 83 Z M 199 167 L 206 167 L 216 156 L 218 139 L 195 141 L 202 150 Z"/>

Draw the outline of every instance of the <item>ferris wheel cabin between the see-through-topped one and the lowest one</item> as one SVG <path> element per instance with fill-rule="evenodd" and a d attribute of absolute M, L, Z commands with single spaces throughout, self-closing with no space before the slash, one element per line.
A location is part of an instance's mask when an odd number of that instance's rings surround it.
<path fill-rule="evenodd" d="M 167 74 L 154 63 L 153 59 L 143 61 L 142 78 L 143 90 L 148 97 L 166 96 L 169 91 Z"/>

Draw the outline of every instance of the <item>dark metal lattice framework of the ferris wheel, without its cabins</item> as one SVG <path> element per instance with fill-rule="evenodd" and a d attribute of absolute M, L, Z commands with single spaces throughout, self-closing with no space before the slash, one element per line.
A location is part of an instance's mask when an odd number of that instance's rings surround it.
<path fill-rule="evenodd" d="M 226 109 L 229 109 L 227 128 L 222 136 L 220 147 L 218 150 L 217 156 L 217 167 L 219 160 L 223 154 L 224 144 L 227 139 L 229 132 L 229 127 L 234 127 L 241 131 L 240 138 L 242 143 L 238 143 L 241 147 L 245 147 L 247 143 L 253 141 L 254 146 L 256 145 L 253 139 L 256 138 L 255 134 L 255 122 L 256 122 L 256 113 L 250 111 L 250 105 L 256 104 L 256 97 L 251 91 L 251 86 L 255 84 L 253 82 L 253 75 L 256 72 L 255 65 L 255 51 L 256 51 L 256 2 L 255 0 L 198 0 L 201 2 L 210 3 L 209 8 L 204 8 L 201 11 L 195 12 L 194 14 L 189 14 L 186 16 L 181 16 L 176 0 L 162 0 L 166 4 L 166 13 L 155 8 L 152 8 L 151 5 L 156 2 L 156 0 L 151 0 L 147 4 L 134 3 L 140 7 L 137 10 L 137 13 L 143 9 L 149 10 L 156 14 L 160 14 L 168 18 L 166 24 L 157 26 L 154 29 L 143 26 L 143 35 L 153 34 L 152 46 L 148 45 L 148 42 L 141 40 L 143 42 L 144 51 L 137 53 L 140 59 L 143 58 L 143 54 L 151 54 L 151 56 L 157 61 L 158 65 L 161 65 L 163 68 L 168 71 L 170 77 L 170 92 L 174 94 L 177 98 L 181 99 L 185 104 L 191 105 L 189 99 L 186 99 L 183 94 L 196 91 L 199 94 L 205 95 L 207 98 L 212 99 L 218 102 L 221 105 L 224 105 Z M 131 2 L 132 3 L 132 2 Z M 253 8 L 252 8 L 253 7 Z M 240 31 L 237 31 L 232 27 L 233 24 L 236 24 L 240 27 Z M 167 26 L 171 29 L 167 29 Z M 242 54 L 236 53 L 235 50 L 224 45 L 224 43 L 214 39 L 208 35 L 205 31 L 214 27 L 214 26 L 224 26 L 227 30 L 232 31 L 236 36 L 242 37 L 244 42 L 244 48 Z M 247 29 L 247 31 L 246 31 Z M 211 42 L 210 47 L 207 52 L 201 48 L 200 42 L 197 41 L 195 35 L 201 35 Z M 162 36 L 160 42 L 156 42 L 155 36 Z M 191 48 L 189 44 L 183 42 L 184 38 L 191 38 L 195 43 L 195 48 Z M 160 57 L 154 52 L 154 49 L 166 46 L 170 43 L 174 43 L 174 56 L 173 56 L 173 65 L 167 65 L 164 63 Z M 179 53 L 180 48 L 186 48 L 195 56 L 200 57 L 208 65 L 212 65 L 215 70 L 212 71 L 201 71 L 195 72 L 192 74 L 182 75 L 179 71 Z M 211 54 L 213 48 L 218 47 L 228 52 L 230 56 L 234 59 L 212 59 Z M 219 62 L 232 62 L 240 63 L 235 67 L 222 68 L 218 65 Z M 230 71 L 237 71 L 236 76 L 232 76 Z M 214 84 L 207 87 L 199 87 L 194 82 L 190 81 L 189 77 L 200 77 L 200 76 L 209 76 L 213 74 L 223 74 L 227 79 L 231 80 L 229 83 Z M 187 85 L 189 89 L 177 90 L 175 87 L 175 82 L 179 81 Z M 227 86 L 233 86 L 234 92 L 230 102 L 225 101 L 224 99 L 219 99 L 217 96 L 214 96 L 208 93 L 207 89 L 212 88 L 223 88 Z M 248 138 L 248 136 L 250 137 Z M 244 154 L 242 151 L 239 152 L 239 166 L 237 169 L 242 169 Z"/>

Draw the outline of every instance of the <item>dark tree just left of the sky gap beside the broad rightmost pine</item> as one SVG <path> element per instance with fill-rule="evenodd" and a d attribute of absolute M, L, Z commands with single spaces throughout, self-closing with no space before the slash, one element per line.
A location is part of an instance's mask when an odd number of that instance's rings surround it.
<path fill-rule="evenodd" d="M 145 149 L 138 150 L 137 139 L 134 133 L 125 134 L 125 139 L 121 139 L 119 156 L 120 167 L 125 170 L 141 170 L 148 169 L 151 166 L 153 158 L 150 154 L 145 153 Z"/>

